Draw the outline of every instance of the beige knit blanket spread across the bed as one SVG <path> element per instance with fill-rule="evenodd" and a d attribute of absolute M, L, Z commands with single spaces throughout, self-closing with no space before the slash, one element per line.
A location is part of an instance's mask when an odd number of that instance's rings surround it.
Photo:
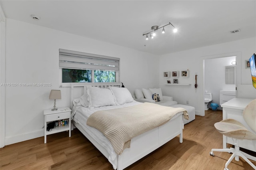
<path fill-rule="evenodd" d="M 115 152 L 122 154 L 125 148 L 130 148 L 132 138 L 167 123 L 179 112 L 183 112 L 188 119 L 188 113 L 183 108 L 142 103 L 94 112 L 88 118 L 87 125 L 100 130 L 110 140 Z"/>

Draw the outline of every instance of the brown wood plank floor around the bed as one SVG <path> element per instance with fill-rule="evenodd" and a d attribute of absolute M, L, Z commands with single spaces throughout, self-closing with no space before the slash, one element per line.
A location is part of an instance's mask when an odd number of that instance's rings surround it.
<path fill-rule="evenodd" d="M 183 143 L 176 137 L 125 170 L 223 170 L 229 153 L 214 152 L 222 148 L 222 134 L 214 123 L 222 120 L 222 111 L 206 111 L 204 117 L 188 123 Z M 252 161 L 255 165 L 256 162 Z M 242 158 L 232 160 L 230 170 L 253 170 Z M 1 170 L 113 170 L 108 160 L 78 130 L 51 134 L 0 148 Z"/>

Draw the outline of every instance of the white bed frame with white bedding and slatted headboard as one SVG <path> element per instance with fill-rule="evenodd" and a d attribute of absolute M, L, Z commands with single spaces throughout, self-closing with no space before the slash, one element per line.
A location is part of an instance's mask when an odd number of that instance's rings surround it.
<path fill-rule="evenodd" d="M 71 83 L 71 108 L 73 108 L 73 125 L 78 128 L 78 130 L 80 130 L 80 132 L 82 132 L 82 134 L 84 134 L 84 136 L 86 136 L 86 138 L 88 138 L 88 140 L 90 140 L 90 142 L 92 142 L 92 144 L 94 144 L 98 150 L 100 150 L 100 152 L 113 165 L 113 168 L 117 170 L 122 170 L 128 167 L 178 135 L 180 137 L 180 143 L 182 143 L 182 129 L 184 128 L 182 119 L 183 114 L 186 113 L 180 111 L 176 113 L 167 123 L 132 138 L 130 140 L 130 147 L 122 150 L 121 154 L 116 154 L 108 138 L 106 138 L 106 136 L 104 136 L 104 134 L 102 134 L 102 132 L 100 132 L 98 129 L 86 125 L 85 122 L 94 112 L 118 109 L 122 107 L 136 107 L 136 105 L 140 105 L 141 103 L 136 101 L 123 101 L 124 103 L 122 103 L 122 105 L 84 107 L 84 103 L 79 103 L 79 99 L 80 101 L 82 98 L 87 99 L 87 92 L 90 92 L 88 89 L 92 87 L 98 87 L 103 90 L 111 87 L 121 86 L 122 83 Z M 90 95 L 92 95 L 91 92 Z M 115 99 L 118 97 L 120 96 L 116 96 Z M 93 99 L 90 100 L 93 101 Z"/>

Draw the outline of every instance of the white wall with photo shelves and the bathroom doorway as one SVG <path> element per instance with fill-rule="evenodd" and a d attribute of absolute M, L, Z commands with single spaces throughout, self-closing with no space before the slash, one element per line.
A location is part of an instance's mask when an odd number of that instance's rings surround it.
<path fill-rule="evenodd" d="M 238 79 L 240 80 L 239 84 L 241 85 L 250 85 L 250 69 L 245 69 L 244 62 L 248 60 L 250 56 L 256 51 L 256 38 L 247 38 L 243 40 L 221 43 L 216 45 L 210 45 L 206 47 L 190 49 L 186 51 L 180 51 L 176 53 L 170 53 L 160 56 L 159 60 L 159 86 L 162 87 L 164 95 L 171 95 L 174 97 L 174 100 L 179 104 L 186 105 L 186 101 L 189 101 L 188 105 L 191 105 L 196 108 L 197 115 L 204 115 L 204 104 L 203 103 L 203 60 L 208 56 L 220 55 L 225 53 L 241 53 L 241 60 L 237 62 L 238 70 Z M 172 86 L 164 85 L 166 83 L 166 78 L 163 77 L 164 71 L 181 71 L 181 70 L 190 70 L 190 77 L 184 78 L 179 77 L 179 83 L 191 83 L 191 86 Z M 217 69 L 217 68 L 216 68 Z M 195 74 L 198 74 L 198 88 L 194 88 L 195 83 Z M 244 86 L 240 86 L 239 90 L 244 90 Z M 253 96 L 256 98 L 256 90 L 250 91 Z M 239 97 L 239 96 L 238 96 Z"/>

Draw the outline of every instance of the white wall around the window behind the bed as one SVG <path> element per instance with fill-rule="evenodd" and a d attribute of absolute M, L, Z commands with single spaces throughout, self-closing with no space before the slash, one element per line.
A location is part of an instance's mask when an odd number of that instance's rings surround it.
<path fill-rule="evenodd" d="M 6 83 L 52 83 L 51 87 L 6 87 L 6 145 L 43 136 L 43 110 L 53 107 L 51 89 L 60 89 L 57 107 L 70 106 L 70 88 L 60 88 L 59 48 L 120 57 L 120 81 L 135 88 L 157 87 L 158 57 L 20 22 L 6 20 Z"/>

